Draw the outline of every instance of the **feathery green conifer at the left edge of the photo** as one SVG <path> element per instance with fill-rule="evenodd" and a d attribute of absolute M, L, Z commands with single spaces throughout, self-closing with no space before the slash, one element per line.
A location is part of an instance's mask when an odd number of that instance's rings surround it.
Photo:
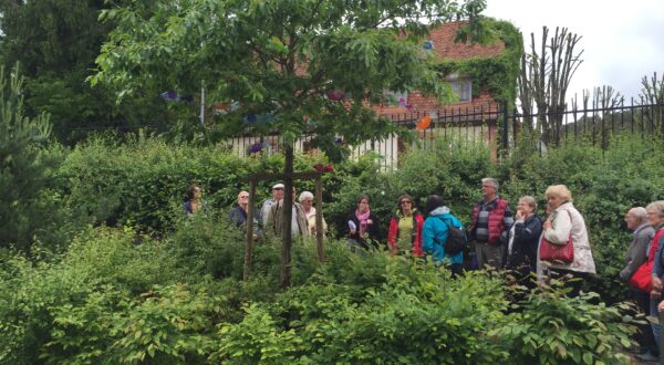
<path fill-rule="evenodd" d="M 40 148 L 51 133 L 49 116 L 24 116 L 22 84 L 18 66 L 9 83 L 0 67 L 0 247 L 25 249 L 45 227 L 48 215 L 40 215 L 39 197 L 53 161 Z"/>

